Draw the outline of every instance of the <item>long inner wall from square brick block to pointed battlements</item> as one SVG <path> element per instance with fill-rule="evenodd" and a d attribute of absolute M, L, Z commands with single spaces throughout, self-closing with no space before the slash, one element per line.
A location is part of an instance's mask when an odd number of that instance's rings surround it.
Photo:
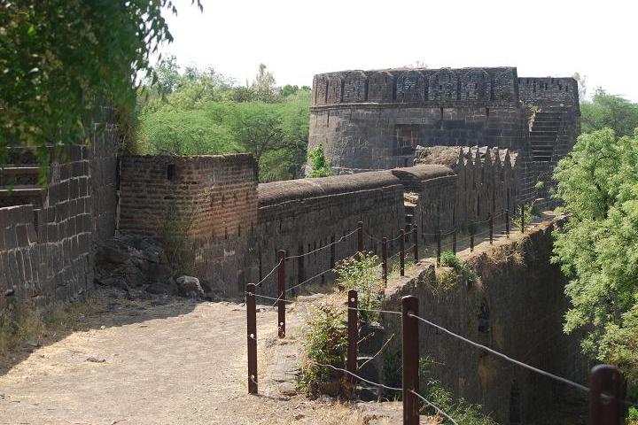
<path fill-rule="evenodd" d="M 124 157 L 119 229 L 161 239 L 177 223 L 197 253 L 192 274 L 227 297 L 268 276 L 278 250 L 294 257 L 285 263 L 287 287 L 312 277 L 331 282 L 332 272 L 323 272 L 354 254 L 360 220 L 366 250 L 380 254 L 381 238 L 408 224 L 425 238 L 513 210 L 509 151 L 437 149 L 417 166 L 259 185 L 251 155 Z M 398 249 L 389 244 L 390 255 Z M 275 295 L 276 276 L 262 286 Z"/>

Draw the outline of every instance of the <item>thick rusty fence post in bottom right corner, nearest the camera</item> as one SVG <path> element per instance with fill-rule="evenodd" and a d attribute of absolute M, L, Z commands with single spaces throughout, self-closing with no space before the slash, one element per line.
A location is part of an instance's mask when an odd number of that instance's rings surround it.
<path fill-rule="evenodd" d="M 619 369 L 611 365 L 592 368 L 589 376 L 589 425 L 625 423 L 625 382 Z"/>

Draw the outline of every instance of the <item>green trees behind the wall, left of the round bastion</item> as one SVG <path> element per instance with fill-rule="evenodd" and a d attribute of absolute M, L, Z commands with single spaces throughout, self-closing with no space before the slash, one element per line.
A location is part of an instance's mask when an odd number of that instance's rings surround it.
<path fill-rule="evenodd" d="M 159 64 L 158 75 L 159 95 L 140 97 L 140 153 L 249 151 L 260 165 L 262 182 L 300 176 L 306 160 L 310 88 L 277 89 L 263 64 L 247 87 L 212 68 L 182 72 L 175 58 Z"/>

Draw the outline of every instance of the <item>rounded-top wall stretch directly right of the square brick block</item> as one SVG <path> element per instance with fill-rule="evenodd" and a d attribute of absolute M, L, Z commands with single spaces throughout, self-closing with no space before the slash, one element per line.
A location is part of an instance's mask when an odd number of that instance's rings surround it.
<path fill-rule="evenodd" d="M 366 250 L 381 252 L 383 236 L 398 235 L 404 228 L 403 186 L 389 171 L 271 182 L 259 185 L 259 249 L 256 281 L 277 263 L 276 251 L 300 255 L 338 241 L 357 228 L 362 220 L 366 230 Z M 372 237 L 370 237 L 370 235 Z M 395 251 L 398 243 L 390 245 Z M 334 267 L 339 259 L 354 255 L 357 235 L 331 248 L 300 259 L 286 261 L 287 287 Z M 333 274 L 315 279 L 330 282 Z M 276 294 L 276 276 L 263 283 L 263 290 Z"/>

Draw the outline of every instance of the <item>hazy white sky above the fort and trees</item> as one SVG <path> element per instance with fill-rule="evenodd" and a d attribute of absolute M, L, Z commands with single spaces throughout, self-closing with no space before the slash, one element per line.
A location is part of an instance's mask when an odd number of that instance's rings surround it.
<path fill-rule="evenodd" d="M 636 0 L 182 0 L 168 17 L 183 66 L 252 80 L 263 62 L 279 85 L 315 73 L 423 62 L 517 66 L 518 76 L 587 75 L 638 102 Z"/>

